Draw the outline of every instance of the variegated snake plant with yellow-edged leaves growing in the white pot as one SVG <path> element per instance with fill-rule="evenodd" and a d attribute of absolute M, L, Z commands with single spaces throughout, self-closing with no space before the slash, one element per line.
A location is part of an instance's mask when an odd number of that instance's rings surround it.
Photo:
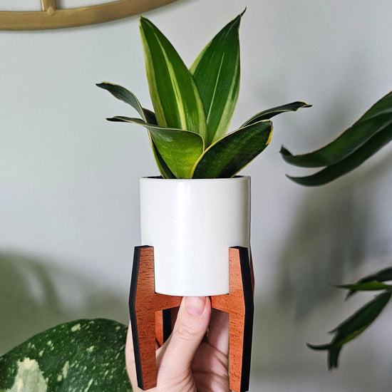
<path fill-rule="evenodd" d="M 164 178 L 233 177 L 269 144 L 270 118 L 310 106 L 296 101 L 263 110 L 227 133 L 239 92 L 239 24 L 243 14 L 212 38 L 189 69 L 163 33 L 140 16 L 155 113 L 143 108 L 126 88 L 108 82 L 97 84 L 138 112 L 140 118 L 117 115 L 108 120 L 148 129 Z"/>

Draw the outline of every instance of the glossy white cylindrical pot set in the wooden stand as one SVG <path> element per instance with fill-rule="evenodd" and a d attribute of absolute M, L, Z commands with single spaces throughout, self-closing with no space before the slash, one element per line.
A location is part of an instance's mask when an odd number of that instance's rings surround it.
<path fill-rule="evenodd" d="M 155 292 L 229 292 L 229 247 L 248 247 L 250 177 L 140 179 L 143 245 L 154 247 Z"/>

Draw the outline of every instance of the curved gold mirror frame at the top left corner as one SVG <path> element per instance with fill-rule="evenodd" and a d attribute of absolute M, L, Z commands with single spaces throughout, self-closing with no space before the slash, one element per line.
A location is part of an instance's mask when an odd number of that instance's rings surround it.
<path fill-rule="evenodd" d="M 117 0 L 73 9 L 57 9 L 41 0 L 42 11 L 0 11 L 0 30 L 43 30 L 98 24 L 155 9 L 175 0 Z"/>

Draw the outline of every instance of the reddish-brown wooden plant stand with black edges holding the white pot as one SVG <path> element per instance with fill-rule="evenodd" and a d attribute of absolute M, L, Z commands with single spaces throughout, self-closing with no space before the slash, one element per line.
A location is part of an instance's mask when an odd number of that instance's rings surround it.
<path fill-rule="evenodd" d="M 211 296 L 212 308 L 229 314 L 229 378 L 235 392 L 249 390 L 253 329 L 253 269 L 246 247 L 229 248 L 229 294 Z M 135 247 L 130 284 L 130 321 L 138 386 L 156 386 L 155 339 L 171 333 L 170 309 L 180 306 L 181 296 L 155 293 L 154 249 Z"/>

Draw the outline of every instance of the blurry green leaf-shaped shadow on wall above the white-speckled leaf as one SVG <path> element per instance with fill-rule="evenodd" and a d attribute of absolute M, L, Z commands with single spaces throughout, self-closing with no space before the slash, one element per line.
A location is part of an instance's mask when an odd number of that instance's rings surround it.
<path fill-rule="evenodd" d="M 0 253 L 0 356 L 64 321 L 104 317 L 127 323 L 128 299 L 97 286 L 37 259 Z"/>

